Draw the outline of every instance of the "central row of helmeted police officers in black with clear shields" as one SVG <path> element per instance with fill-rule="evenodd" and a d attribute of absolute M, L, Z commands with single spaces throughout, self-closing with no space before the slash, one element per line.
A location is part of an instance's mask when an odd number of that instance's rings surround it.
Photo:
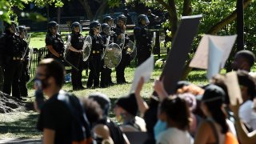
<path fill-rule="evenodd" d="M 126 32 L 126 16 L 121 14 L 118 16 L 118 22 L 113 27 L 113 18 L 106 16 L 103 19 L 103 24 L 97 21 L 90 23 L 90 38 L 92 39 L 90 57 L 87 62 L 90 69 L 89 78 L 87 81 L 87 88 L 92 87 L 106 87 L 114 84 L 111 80 L 110 68 L 107 68 L 102 58 L 103 51 L 106 46 L 112 42 L 119 44 L 122 47 L 122 60 L 116 67 L 117 83 L 125 83 L 125 68 L 130 64 L 130 54 L 127 53 L 127 42 L 129 38 Z M 138 16 L 138 26 L 134 28 L 134 38 L 138 49 L 138 65 L 150 57 L 151 54 L 151 35 L 147 29 L 149 23 L 146 15 L 141 14 Z M 102 32 L 101 32 L 102 28 Z M 73 90 L 82 90 L 82 69 L 84 62 L 82 62 L 82 46 L 84 37 L 82 36 L 82 26 L 78 22 L 71 25 L 72 34 L 70 34 L 70 46 L 66 60 L 74 67 L 71 70 L 71 81 Z M 100 33 L 101 32 L 101 33 Z M 106 42 L 106 38 L 110 36 L 110 42 Z M 125 37 L 125 42 L 122 43 L 122 37 Z M 123 45 L 123 46 L 122 46 Z M 46 34 L 46 46 L 49 50 L 48 58 L 57 58 L 63 60 L 64 43 L 61 36 L 58 34 L 58 23 L 50 22 L 48 25 L 48 33 Z M 102 72 L 100 74 L 100 72 Z M 101 75 L 101 82 L 99 78 Z"/>

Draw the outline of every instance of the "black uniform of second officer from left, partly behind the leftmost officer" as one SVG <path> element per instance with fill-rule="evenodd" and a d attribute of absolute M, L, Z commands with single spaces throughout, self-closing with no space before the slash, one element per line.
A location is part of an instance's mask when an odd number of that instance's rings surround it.
<path fill-rule="evenodd" d="M 29 74 L 29 48 L 28 45 L 26 43 L 26 41 L 24 39 L 22 39 L 22 46 L 24 46 L 24 52 L 26 52 L 22 60 L 22 75 L 21 78 L 19 80 L 19 88 L 21 91 L 21 96 L 22 97 L 26 97 L 27 96 L 27 87 L 26 87 L 26 82 L 28 82 L 30 80 L 30 74 Z"/>

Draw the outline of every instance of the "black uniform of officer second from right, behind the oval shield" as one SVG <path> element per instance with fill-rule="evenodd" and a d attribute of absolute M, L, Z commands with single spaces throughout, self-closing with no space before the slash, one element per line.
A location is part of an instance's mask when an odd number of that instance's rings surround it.
<path fill-rule="evenodd" d="M 119 27 L 119 26 L 116 26 L 113 29 L 113 31 L 115 32 L 116 37 L 118 37 L 119 34 L 123 34 L 122 28 Z M 115 43 L 118 44 L 119 43 L 118 40 Z M 117 82 L 118 83 L 125 83 L 126 82 L 125 69 L 126 69 L 126 66 L 130 65 L 130 54 L 127 54 L 127 49 L 126 49 L 126 43 L 127 42 L 129 42 L 129 38 L 128 37 L 126 37 L 125 46 L 123 46 L 123 49 L 122 49 L 122 59 L 121 59 L 121 62 L 116 67 L 116 76 L 117 76 Z"/>

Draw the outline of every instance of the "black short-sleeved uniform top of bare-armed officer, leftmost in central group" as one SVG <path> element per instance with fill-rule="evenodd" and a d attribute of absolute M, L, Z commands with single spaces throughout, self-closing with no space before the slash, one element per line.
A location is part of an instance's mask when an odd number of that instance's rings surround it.
<path fill-rule="evenodd" d="M 46 46 L 53 46 L 54 50 L 58 53 L 63 55 L 64 52 L 64 42 L 60 34 L 46 34 Z M 58 59 L 54 54 L 51 54 L 50 50 L 48 50 L 47 58 L 54 58 Z"/>

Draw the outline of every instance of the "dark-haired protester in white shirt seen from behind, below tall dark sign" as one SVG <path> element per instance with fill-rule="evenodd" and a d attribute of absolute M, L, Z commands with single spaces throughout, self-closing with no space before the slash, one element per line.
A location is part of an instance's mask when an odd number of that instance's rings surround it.
<path fill-rule="evenodd" d="M 158 118 L 166 122 L 166 130 L 159 134 L 158 144 L 193 143 L 194 140 L 188 132 L 190 112 L 184 99 L 176 96 L 165 98 L 160 105 Z"/>

